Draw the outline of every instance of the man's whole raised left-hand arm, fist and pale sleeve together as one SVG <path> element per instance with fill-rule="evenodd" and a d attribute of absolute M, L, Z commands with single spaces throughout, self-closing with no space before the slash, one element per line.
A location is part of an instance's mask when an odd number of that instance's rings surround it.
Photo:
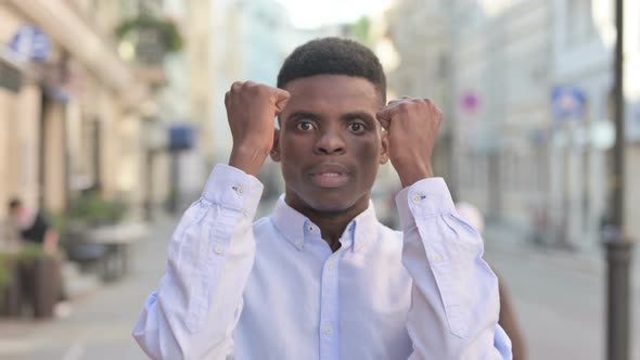
<path fill-rule="evenodd" d="M 218 165 L 169 244 L 167 271 L 133 330 L 153 359 L 225 359 L 255 257 L 252 222 L 263 184 L 255 178 L 273 145 L 273 118 L 289 93 L 252 81 L 225 97 L 233 137 L 230 166 Z"/>

